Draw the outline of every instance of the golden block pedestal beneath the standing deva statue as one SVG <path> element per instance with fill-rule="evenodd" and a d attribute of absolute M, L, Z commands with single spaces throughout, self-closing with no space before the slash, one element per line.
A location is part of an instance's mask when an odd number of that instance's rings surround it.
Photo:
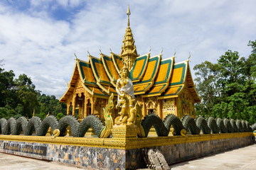
<path fill-rule="evenodd" d="M 132 140 L 137 138 L 137 125 L 114 125 L 113 140 Z"/>

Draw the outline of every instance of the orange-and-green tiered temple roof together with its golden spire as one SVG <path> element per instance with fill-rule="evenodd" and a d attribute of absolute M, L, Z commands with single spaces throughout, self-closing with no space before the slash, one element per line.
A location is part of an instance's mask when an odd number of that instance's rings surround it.
<path fill-rule="evenodd" d="M 200 102 L 191 77 L 188 60 L 175 63 L 174 57 L 162 60 L 161 54 L 150 57 L 137 55 L 132 30 L 129 27 L 129 6 L 127 10 L 128 24 L 124 35 L 122 52 L 110 56 L 100 54 L 100 58 L 89 55 L 89 62 L 76 60 L 73 77 L 61 102 L 65 102 L 75 88 L 78 77 L 82 86 L 93 96 L 107 98 L 111 93 L 117 96 L 115 86 L 124 64 L 129 68 L 129 78 L 134 84 L 134 94 L 142 97 L 158 96 L 174 98 L 183 88 L 189 89 L 195 102 Z"/>

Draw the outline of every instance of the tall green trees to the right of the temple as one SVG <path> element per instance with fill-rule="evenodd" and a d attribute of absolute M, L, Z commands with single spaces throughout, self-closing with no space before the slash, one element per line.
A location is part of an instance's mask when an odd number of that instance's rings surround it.
<path fill-rule="evenodd" d="M 196 115 L 256 122 L 256 40 L 248 46 L 252 54 L 247 58 L 228 50 L 217 64 L 206 61 L 193 68 L 202 100 Z"/>

